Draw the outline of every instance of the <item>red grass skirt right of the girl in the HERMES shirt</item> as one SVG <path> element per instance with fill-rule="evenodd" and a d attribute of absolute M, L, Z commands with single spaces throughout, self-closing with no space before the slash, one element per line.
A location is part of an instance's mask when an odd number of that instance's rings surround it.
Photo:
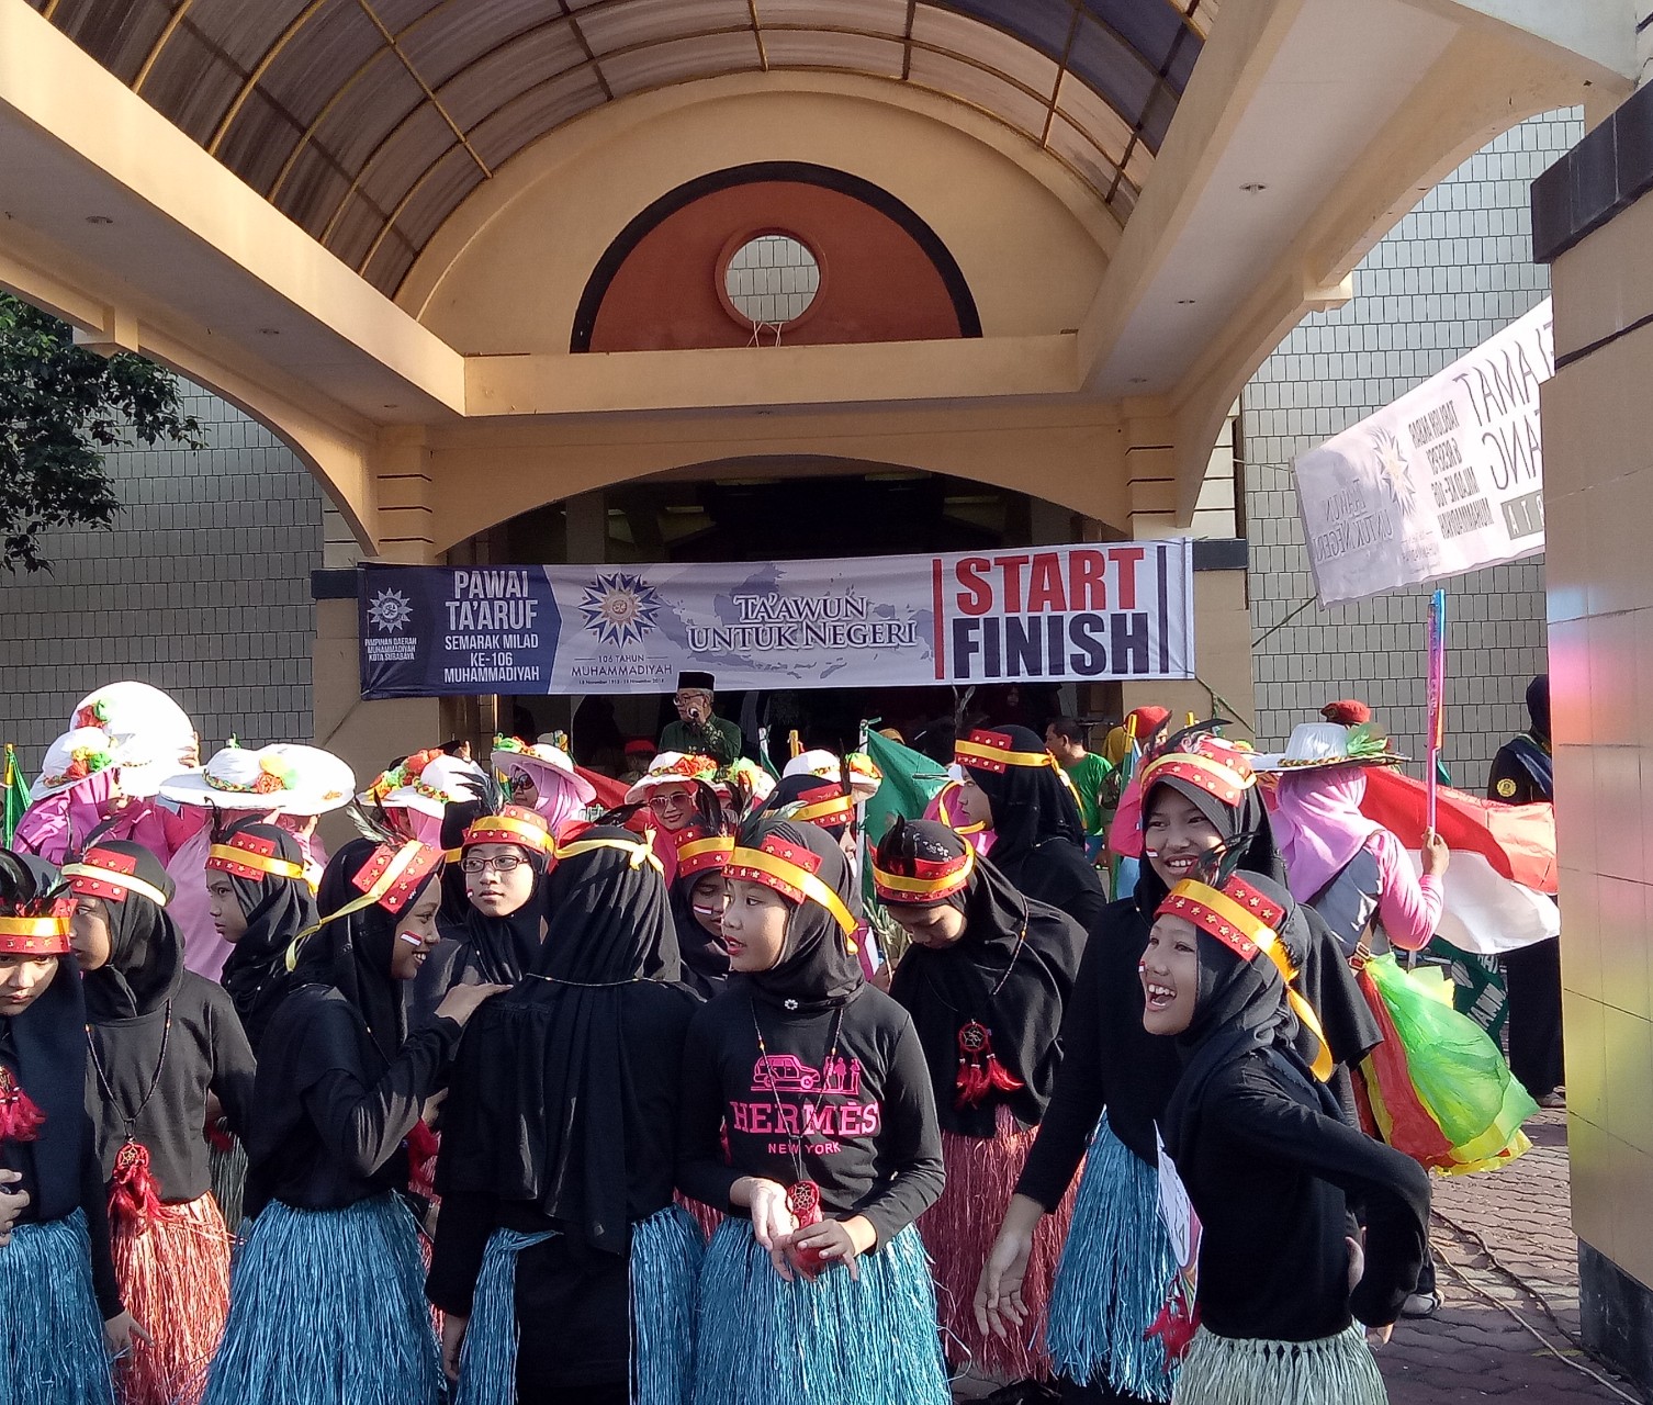
<path fill-rule="evenodd" d="M 1003 1341 L 992 1334 L 984 1337 L 975 1326 L 975 1286 L 1035 1136 L 1038 1127 L 1022 1127 L 1003 1104 L 998 1107 L 992 1139 L 942 1132 L 947 1188 L 919 1218 L 919 1233 L 936 1274 L 936 1301 L 947 1355 L 957 1360 L 969 1354 L 975 1374 L 995 1380 L 1043 1380 L 1050 1375 L 1045 1306 L 1050 1303 L 1056 1261 L 1073 1222 L 1078 1175 L 1056 1213 L 1045 1215 L 1033 1231 L 1033 1255 L 1022 1284 L 1022 1301 L 1028 1306 L 1022 1336 Z"/>

